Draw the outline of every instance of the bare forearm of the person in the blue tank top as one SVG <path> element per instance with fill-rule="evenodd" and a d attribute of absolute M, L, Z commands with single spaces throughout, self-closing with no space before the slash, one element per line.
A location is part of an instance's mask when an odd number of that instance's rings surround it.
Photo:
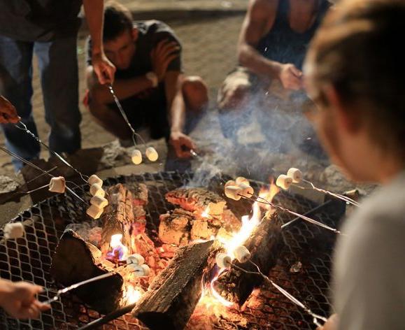
<path fill-rule="evenodd" d="M 281 64 L 265 58 L 251 45 L 241 45 L 239 48 L 239 63 L 255 73 L 257 76 L 272 79 L 280 78 Z"/>

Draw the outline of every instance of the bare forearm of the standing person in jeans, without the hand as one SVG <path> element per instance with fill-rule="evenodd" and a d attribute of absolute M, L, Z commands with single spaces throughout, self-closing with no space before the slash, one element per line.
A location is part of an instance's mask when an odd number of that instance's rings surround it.
<path fill-rule="evenodd" d="M 83 0 L 87 25 L 92 37 L 92 54 L 100 54 L 103 50 L 103 22 L 104 22 L 104 1 Z"/>

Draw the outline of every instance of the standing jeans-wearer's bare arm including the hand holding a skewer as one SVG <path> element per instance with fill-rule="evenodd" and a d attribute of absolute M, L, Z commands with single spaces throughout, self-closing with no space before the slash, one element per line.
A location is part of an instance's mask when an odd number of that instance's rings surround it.
<path fill-rule="evenodd" d="M 103 23 L 104 0 L 83 0 L 87 24 L 92 36 L 92 64 L 101 85 L 112 83 L 115 66 L 104 54 Z"/>

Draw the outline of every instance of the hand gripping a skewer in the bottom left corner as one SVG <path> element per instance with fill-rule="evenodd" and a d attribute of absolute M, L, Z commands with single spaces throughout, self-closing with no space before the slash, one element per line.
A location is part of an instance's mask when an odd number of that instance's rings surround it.
<path fill-rule="evenodd" d="M 41 312 L 50 308 L 35 298 L 41 291 L 42 287 L 28 282 L 1 280 L 0 306 L 17 319 L 36 319 Z"/>

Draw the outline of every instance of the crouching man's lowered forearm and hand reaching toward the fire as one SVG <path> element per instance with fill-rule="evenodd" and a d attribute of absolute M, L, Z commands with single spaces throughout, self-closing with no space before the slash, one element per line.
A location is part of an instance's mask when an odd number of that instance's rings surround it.
<path fill-rule="evenodd" d="M 195 149 L 192 139 L 183 133 L 185 124 L 185 101 L 182 91 L 183 76 L 179 71 L 166 73 L 164 85 L 169 112 L 170 139 L 176 155 L 180 158 L 190 157 L 190 149 Z M 183 149 L 185 148 L 185 149 Z"/>

